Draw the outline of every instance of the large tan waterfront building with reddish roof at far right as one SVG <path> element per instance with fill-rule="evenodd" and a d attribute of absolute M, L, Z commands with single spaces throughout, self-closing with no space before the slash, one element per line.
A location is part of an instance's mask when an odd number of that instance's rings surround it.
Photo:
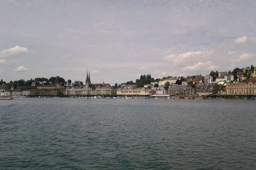
<path fill-rule="evenodd" d="M 227 95 L 256 95 L 256 81 L 250 78 L 246 82 L 227 83 Z"/>

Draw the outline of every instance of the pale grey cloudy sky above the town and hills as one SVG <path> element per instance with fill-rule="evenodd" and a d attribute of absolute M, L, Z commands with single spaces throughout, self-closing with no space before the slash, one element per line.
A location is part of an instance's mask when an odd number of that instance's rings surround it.
<path fill-rule="evenodd" d="M 0 1 L 0 79 L 122 83 L 256 66 L 255 0 Z"/>

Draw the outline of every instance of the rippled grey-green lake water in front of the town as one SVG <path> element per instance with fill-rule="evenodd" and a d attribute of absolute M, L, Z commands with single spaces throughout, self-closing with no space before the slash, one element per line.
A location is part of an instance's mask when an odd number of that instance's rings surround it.
<path fill-rule="evenodd" d="M 0 169 L 256 169 L 256 100 L 0 100 Z"/>

